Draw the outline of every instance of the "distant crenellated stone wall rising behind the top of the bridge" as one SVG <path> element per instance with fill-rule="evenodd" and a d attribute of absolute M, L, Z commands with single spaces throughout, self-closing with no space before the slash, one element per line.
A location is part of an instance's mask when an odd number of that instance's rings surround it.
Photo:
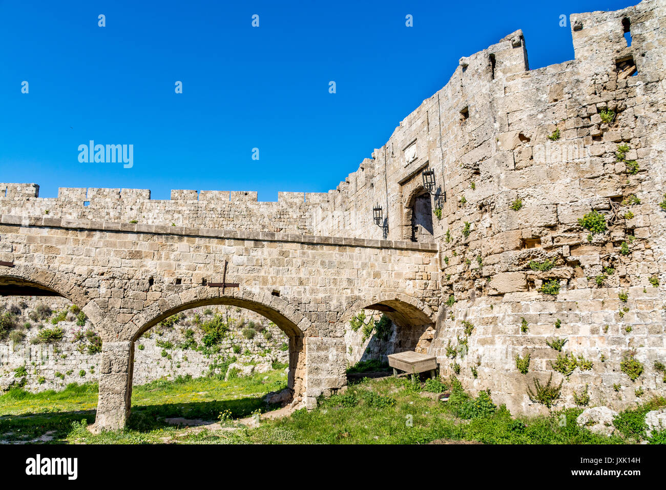
<path fill-rule="evenodd" d="M 151 199 L 149 189 L 60 187 L 39 197 L 34 183 L 0 183 L 0 214 L 314 234 L 313 216 L 328 209 L 328 193 L 279 192 L 257 201 L 256 191 L 174 189 L 171 199 Z"/>

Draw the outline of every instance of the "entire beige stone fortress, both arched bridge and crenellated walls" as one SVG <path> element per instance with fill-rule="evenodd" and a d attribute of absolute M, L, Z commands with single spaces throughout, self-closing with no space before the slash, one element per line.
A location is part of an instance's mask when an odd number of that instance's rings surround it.
<path fill-rule="evenodd" d="M 436 355 L 440 374 L 513 413 L 545 411 L 530 392 L 550 375 L 559 407 L 663 396 L 665 23 L 663 1 L 643 0 L 572 14 L 565 63 L 529 70 L 521 31 L 462 57 L 328 193 L 41 199 L 3 184 L 0 288 L 49 289 L 89 316 L 105 340 L 100 428 L 127 417 L 137 339 L 211 304 L 284 331 L 307 407 L 346 385 L 346 363 L 384 355 L 349 331 L 362 310 L 391 319 L 391 349 Z M 208 286 L 224 261 L 238 288 Z"/>

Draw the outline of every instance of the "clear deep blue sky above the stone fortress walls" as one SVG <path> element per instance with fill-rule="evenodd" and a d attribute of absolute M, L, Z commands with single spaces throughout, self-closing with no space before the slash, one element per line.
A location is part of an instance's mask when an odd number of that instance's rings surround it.
<path fill-rule="evenodd" d="M 42 197 L 328 191 L 460 57 L 523 29 L 532 69 L 561 63 L 573 47 L 559 15 L 635 3 L 0 0 L 0 181 L 38 183 Z M 133 144 L 133 168 L 79 163 L 91 139 Z"/>

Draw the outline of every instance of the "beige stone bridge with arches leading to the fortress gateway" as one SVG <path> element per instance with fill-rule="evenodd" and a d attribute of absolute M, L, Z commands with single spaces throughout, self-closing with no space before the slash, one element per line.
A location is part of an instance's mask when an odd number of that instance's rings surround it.
<path fill-rule="evenodd" d="M 202 305 L 236 305 L 280 327 L 290 339 L 288 386 L 314 407 L 346 385 L 354 313 L 434 327 L 436 256 L 434 243 L 0 215 L 0 293 L 61 295 L 103 339 L 98 430 L 125 425 L 134 342 Z"/>

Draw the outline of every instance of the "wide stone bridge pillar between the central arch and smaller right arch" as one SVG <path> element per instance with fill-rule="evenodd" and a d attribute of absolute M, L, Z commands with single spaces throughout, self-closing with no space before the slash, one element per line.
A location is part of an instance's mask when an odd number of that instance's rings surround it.
<path fill-rule="evenodd" d="M 312 410 L 317 397 L 330 396 L 347 385 L 344 337 L 306 337 L 305 406 Z"/>

